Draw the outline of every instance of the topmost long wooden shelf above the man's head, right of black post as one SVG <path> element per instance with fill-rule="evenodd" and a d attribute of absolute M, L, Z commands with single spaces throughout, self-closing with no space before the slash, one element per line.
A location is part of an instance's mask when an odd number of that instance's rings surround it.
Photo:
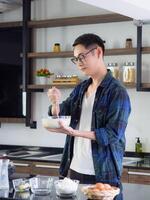
<path fill-rule="evenodd" d="M 83 24 L 97 24 L 110 22 L 132 21 L 130 17 L 119 14 L 92 15 L 81 17 L 57 18 L 48 20 L 32 20 L 28 22 L 30 28 L 61 27 Z"/>

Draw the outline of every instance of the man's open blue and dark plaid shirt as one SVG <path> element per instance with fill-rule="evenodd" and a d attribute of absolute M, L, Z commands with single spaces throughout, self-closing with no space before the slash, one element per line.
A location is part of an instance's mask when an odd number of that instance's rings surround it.
<path fill-rule="evenodd" d="M 71 115 L 72 128 L 76 128 L 79 123 L 82 99 L 91 82 L 90 78 L 80 83 L 60 104 L 60 115 Z M 120 182 L 125 150 L 124 133 L 130 111 L 130 100 L 125 88 L 108 72 L 97 88 L 92 112 L 91 130 L 95 132 L 96 140 L 91 140 L 91 145 L 97 182 Z M 67 176 L 73 156 L 73 144 L 74 137 L 67 136 L 60 165 L 62 176 Z"/>

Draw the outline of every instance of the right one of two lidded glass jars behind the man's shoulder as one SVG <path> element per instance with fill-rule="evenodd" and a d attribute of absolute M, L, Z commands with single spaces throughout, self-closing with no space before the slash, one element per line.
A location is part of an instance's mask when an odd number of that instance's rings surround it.
<path fill-rule="evenodd" d="M 135 83 L 135 64 L 134 64 L 134 62 L 124 63 L 123 82 L 124 83 Z"/>

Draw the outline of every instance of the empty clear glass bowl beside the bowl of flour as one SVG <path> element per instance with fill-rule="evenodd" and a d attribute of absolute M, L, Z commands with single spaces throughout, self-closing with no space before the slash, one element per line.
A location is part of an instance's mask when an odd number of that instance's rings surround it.
<path fill-rule="evenodd" d="M 36 176 L 29 179 L 31 192 L 35 195 L 48 195 L 52 191 L 53 179 L 50 176 Z"/>

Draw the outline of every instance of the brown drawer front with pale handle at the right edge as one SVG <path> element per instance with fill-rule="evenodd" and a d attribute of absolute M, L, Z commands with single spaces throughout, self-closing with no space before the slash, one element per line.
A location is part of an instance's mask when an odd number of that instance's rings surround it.
<path fill-rule="evenodd" d="M 129 169 L 129 183 L 150 185 L 150 170 Z"/>

